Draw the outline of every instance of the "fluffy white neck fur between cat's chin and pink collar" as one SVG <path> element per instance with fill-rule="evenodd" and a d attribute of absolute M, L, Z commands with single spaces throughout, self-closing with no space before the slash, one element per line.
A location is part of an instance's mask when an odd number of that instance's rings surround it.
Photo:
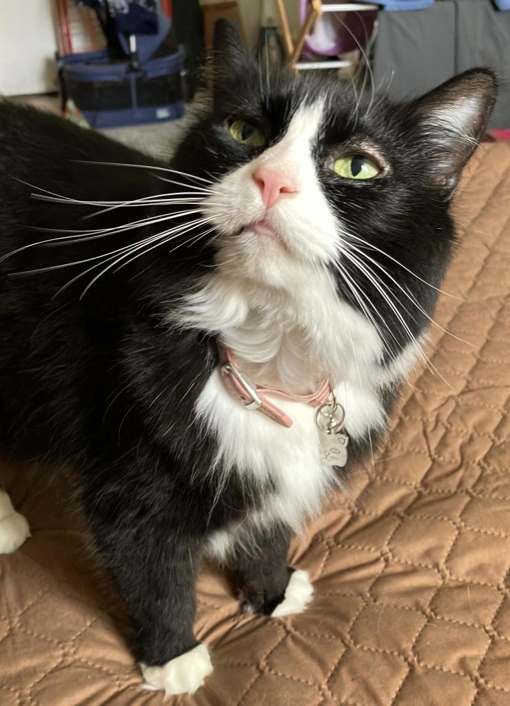
<path fill-rule="evenodd" d="M 323 378 L 358 381 L 360 368 L 381 356 L 374 328 L 327 282 L 286 292 L 215 272 L 186 297 L 179 318 L 217 335 L 257 383 L 296 395 Z"/>

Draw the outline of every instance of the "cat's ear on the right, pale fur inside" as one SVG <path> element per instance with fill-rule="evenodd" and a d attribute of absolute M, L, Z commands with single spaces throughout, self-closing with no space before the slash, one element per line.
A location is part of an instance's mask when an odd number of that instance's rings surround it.
<path fill-rule="evenodd" d="M 496 100 L 494 73 L 476 68 L 455 76 L 411 104 L 433 183 L 447 200 L 482 139 Z"/>

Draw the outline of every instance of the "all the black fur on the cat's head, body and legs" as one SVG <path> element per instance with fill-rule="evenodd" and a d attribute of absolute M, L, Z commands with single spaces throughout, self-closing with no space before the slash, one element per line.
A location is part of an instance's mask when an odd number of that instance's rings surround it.
<path fill-rule="evenodd" d="M 439 285 L 454 243 L 448 198 L 485 128 L 494 100 L 492 74 L 466 73 L 415 102 L 396 105 L 377 97 L 370 112 L 370 96 L 363 97 L 355 114 L 355 96 L 336 80 L 282 73 L 271 77 L 267 90 L 265 77 L 225 25 L 219 26 L 216 47 L 213 100 L 170 166 L 219 178 L 257 153 L 233 143 L 224 127 L 226 116 L 262 124 L 274 142 L 303 96 L 313 102 L 326 95 L 328 118 L 315 157 L 329 203 L 370 244 Z M 480 106 L 473 143 L 425 127 L 424 116 L 434 105 L 466 91 Z M 356 140 L 375 145 L 390 165 L 387 177 L 346 183 L 332 174 L 329 155 Z M 133 621 L 135 657 L 164 664 L 196 644 L 193 584 L 205 538 L 257 508 L 272 487 L 250 488 L 233 475 L 219 489 L 207 474 L 216 442 L 198 426 L 193 405 L 214 368 L 213 347 L 206 331 L 166 324 L 178 296 L 212 265 L 214 243 L 186 244 L 187 234 L 173 253 L 162 246 L 109 270 L 82 298 L 102 268 L 59 290 L 97 261 L 19 276 L 102 256 L 161 226 L 23 249 L 27 245 L 68 237 L 74 229 L 102 229 L 168 213 L 157 206 L 117 208 L 84 221 L 101 207 L 50 203 L 33 198 L 34 193 L 128 201 L 183 190 L 155 176 L 171 179 L 171 174 L 150 167 L 87 164 L 94 161 L 167 166 L 54 116 L 0 104 L 0 439 L 10 457 L 47 457 L 71 462 L 78 470 L 97 548 Z M 192 180 L 176 180 L 193 191 Z M 177 218 L 185 208 L 176 208 Z M 379 251 L 370 253 L 425 312 L 432 311 L 435 289 Z M 378 312 L 392 351 L 398 352 L 406 342 L 402 326 L 369 281 L 360 286 Z M 338 287 L 339 296 L 358 308 L 340 278 Z M 415 306 L 403 308 L 402 316 L 413 335 L 427 323 Z M 387 393 L 388 407 L 392 394 Z M 353 447 L 351 463 L 367 446 Z M 287 534 L 282 527 L 261 534 L 255 558 L 239 556 L 232 568 L 245 599 L 267 613 L 288 581 Z"/>

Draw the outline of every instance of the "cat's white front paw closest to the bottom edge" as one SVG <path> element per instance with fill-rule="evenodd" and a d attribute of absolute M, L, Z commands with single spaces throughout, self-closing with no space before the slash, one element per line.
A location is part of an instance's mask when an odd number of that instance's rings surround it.
<path fill-rule="evenodd" d="M 163 690 L 166 696 L 194 694 L 212 672 L 209 650 L 202 642 L 163 666 L 140 666 L 147 686 Z"/>

